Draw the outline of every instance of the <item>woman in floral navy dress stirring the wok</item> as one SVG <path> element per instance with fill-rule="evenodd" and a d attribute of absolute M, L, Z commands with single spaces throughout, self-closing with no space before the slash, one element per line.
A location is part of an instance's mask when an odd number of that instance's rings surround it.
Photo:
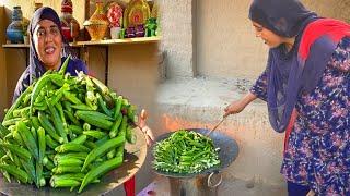
<path fill-rule="evenodd" d="M 298 0 L 254 0 L 249 19 L 270 48 L 267 68 L 224 115 L 267 101 L 271 126 L 287 132 L 289 195 L 350 195 L 350 25 Z"/>

